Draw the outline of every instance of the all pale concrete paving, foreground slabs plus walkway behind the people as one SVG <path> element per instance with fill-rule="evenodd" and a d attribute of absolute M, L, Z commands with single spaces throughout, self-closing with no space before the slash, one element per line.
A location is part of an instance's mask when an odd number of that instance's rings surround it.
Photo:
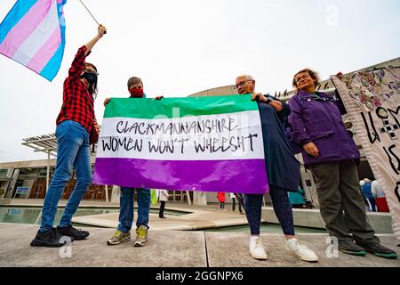
<path fill-rule="evenodd" d="M 65 205 L 64 200 L 60 206 Z M 40 207 L 43 200 L 15 199 L 7 201 L 7 206 Z M 117 204 L 100 201 L 82 201 L 81 207 L 119 208 Z M 247 224 L 245 216 L 237 212 L 220 211 L 217 205 L 195 206 L 182 203 L 167 203 L 167 209 L 184 211 L 182 216 L 166 215 L 159 219 L 150 214 L 148 245 L 133 248 L 132 242 L 117 246 L 107 246 L 106 241 L 115 231 L 118 213 L 96 216 L 76 216 L 74 222 L 106 228 L 88 228 L 88 240 L 79 240 L 70 248 L 31 248 L 30 241 L 38 229 L 37 225 L 0 224 L 0 267 L 4 266 L 55 266 L 55 267 L 400 267 L 400 261 L 383 259 L 377 256 L 348 256 L 339 252 L 338 257 L 328 258 L 326 234 L 299 234 L 309 248 L 316 251 L 320 262 L 310 264 L 300 261 L 284 249 L 282 234 L 262 233 L 261 238 L 268 252 L 267 261 L 252 259 L 248 249 L 248 232 L 189 232 L 215 227 Z M 314 212 L 313 212 L 314 211 Z M 296 219 L 296 211 L 295 213 Z M 301 211 L 300 215 L 320 223 L 317 210 Z M 264 221 L 273 219 L 271 208 L 263 208 Z M 135 213 L 136 215 L 136 213 Z M 136 218 L 136 216 L 135 216 Z M 299 221 L 304 219 L 298 219 Z M 269 222 L 272 222 L 269 221 Z M 134 232 L 132 232 L 134 233 Z M 383 244 L 396 250 L 397 240 L 393 234 L 379 235 Z M 132 235 L 134 238 L 134 234 Z M 71 250 L 71 257 L 68 256 Z M 64 257 L 62 257 L 64 256 Z"/>

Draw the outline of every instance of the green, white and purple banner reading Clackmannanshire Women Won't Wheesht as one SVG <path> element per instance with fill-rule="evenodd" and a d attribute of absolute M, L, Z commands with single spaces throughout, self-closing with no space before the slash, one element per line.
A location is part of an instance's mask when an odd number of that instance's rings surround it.
<path fill-rule="evenodd" d="M 250 95 L 112 98 L 100 130 L 94 183 L 265 193 L 257 103 Z"/>

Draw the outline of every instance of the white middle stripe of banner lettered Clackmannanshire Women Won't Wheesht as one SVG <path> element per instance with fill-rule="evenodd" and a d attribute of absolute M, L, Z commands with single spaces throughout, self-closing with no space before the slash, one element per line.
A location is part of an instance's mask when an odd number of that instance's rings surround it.
<path fill-rule="evenodd" d="M 170 124 L 186 126 L 188 123 L 188 126 L 193 126 L 196 122 L 205 124 L 207 120 L 212 131 L 202 133 L 193 127 L 188 134 L 156 132 L 157 126 L 162 124 L 167 129 Z M 223 128 L 220 128 L 221 124 L 224 124 Z M 104 118 L 97 158 L 264 159 L 260 113 L 252 110 L 188 118 Z"/>

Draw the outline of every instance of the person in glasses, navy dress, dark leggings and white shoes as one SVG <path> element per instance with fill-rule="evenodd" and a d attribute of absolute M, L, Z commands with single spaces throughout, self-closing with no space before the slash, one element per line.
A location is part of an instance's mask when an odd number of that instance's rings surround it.
<path fill-rule="evenodd" d="M 295 233 L 292 206 L 288 191 L 299 190 L 300 162 L 295 159 L 284 134 L 284 118 L 291 110 L 286 103 L 260 93 L 254 93 L 256 81 L 250 75 L 236 77 L 239 94 L 252 94 L 260 110 L 269 194 L 276 216 L 285 237 L 285 249 L 301 260 L 317 262 L 315 252 L 301 243 Z M 260 170 L 260 171 L 265 171 Z M 262 194 L 246 194 L 244 209 L 250 226 L 250 254 L 255 259 L 267 259 L 267 253 L 260 239 Z"/>

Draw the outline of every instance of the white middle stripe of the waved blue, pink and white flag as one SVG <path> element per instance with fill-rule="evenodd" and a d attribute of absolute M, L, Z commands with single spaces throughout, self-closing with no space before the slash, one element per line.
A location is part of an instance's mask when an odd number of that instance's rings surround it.
<path fill-rule="evenodd" d="M 48 41 L 49 37 L 52 37 L 54 29 L 59 26 L 60 23 L 57 4 L 55 1 L 52 1 L 52 6 L 50 7 L 47 16 L 34 30 L 34 32 L 29 35 L 27 40 L 20 45 L 20 48 L 14 53 L 12 59 L 20 62 L 23 65 L 27 65 L 35 56 L 35 54 L 42 48 L 42 46 Z"/>

